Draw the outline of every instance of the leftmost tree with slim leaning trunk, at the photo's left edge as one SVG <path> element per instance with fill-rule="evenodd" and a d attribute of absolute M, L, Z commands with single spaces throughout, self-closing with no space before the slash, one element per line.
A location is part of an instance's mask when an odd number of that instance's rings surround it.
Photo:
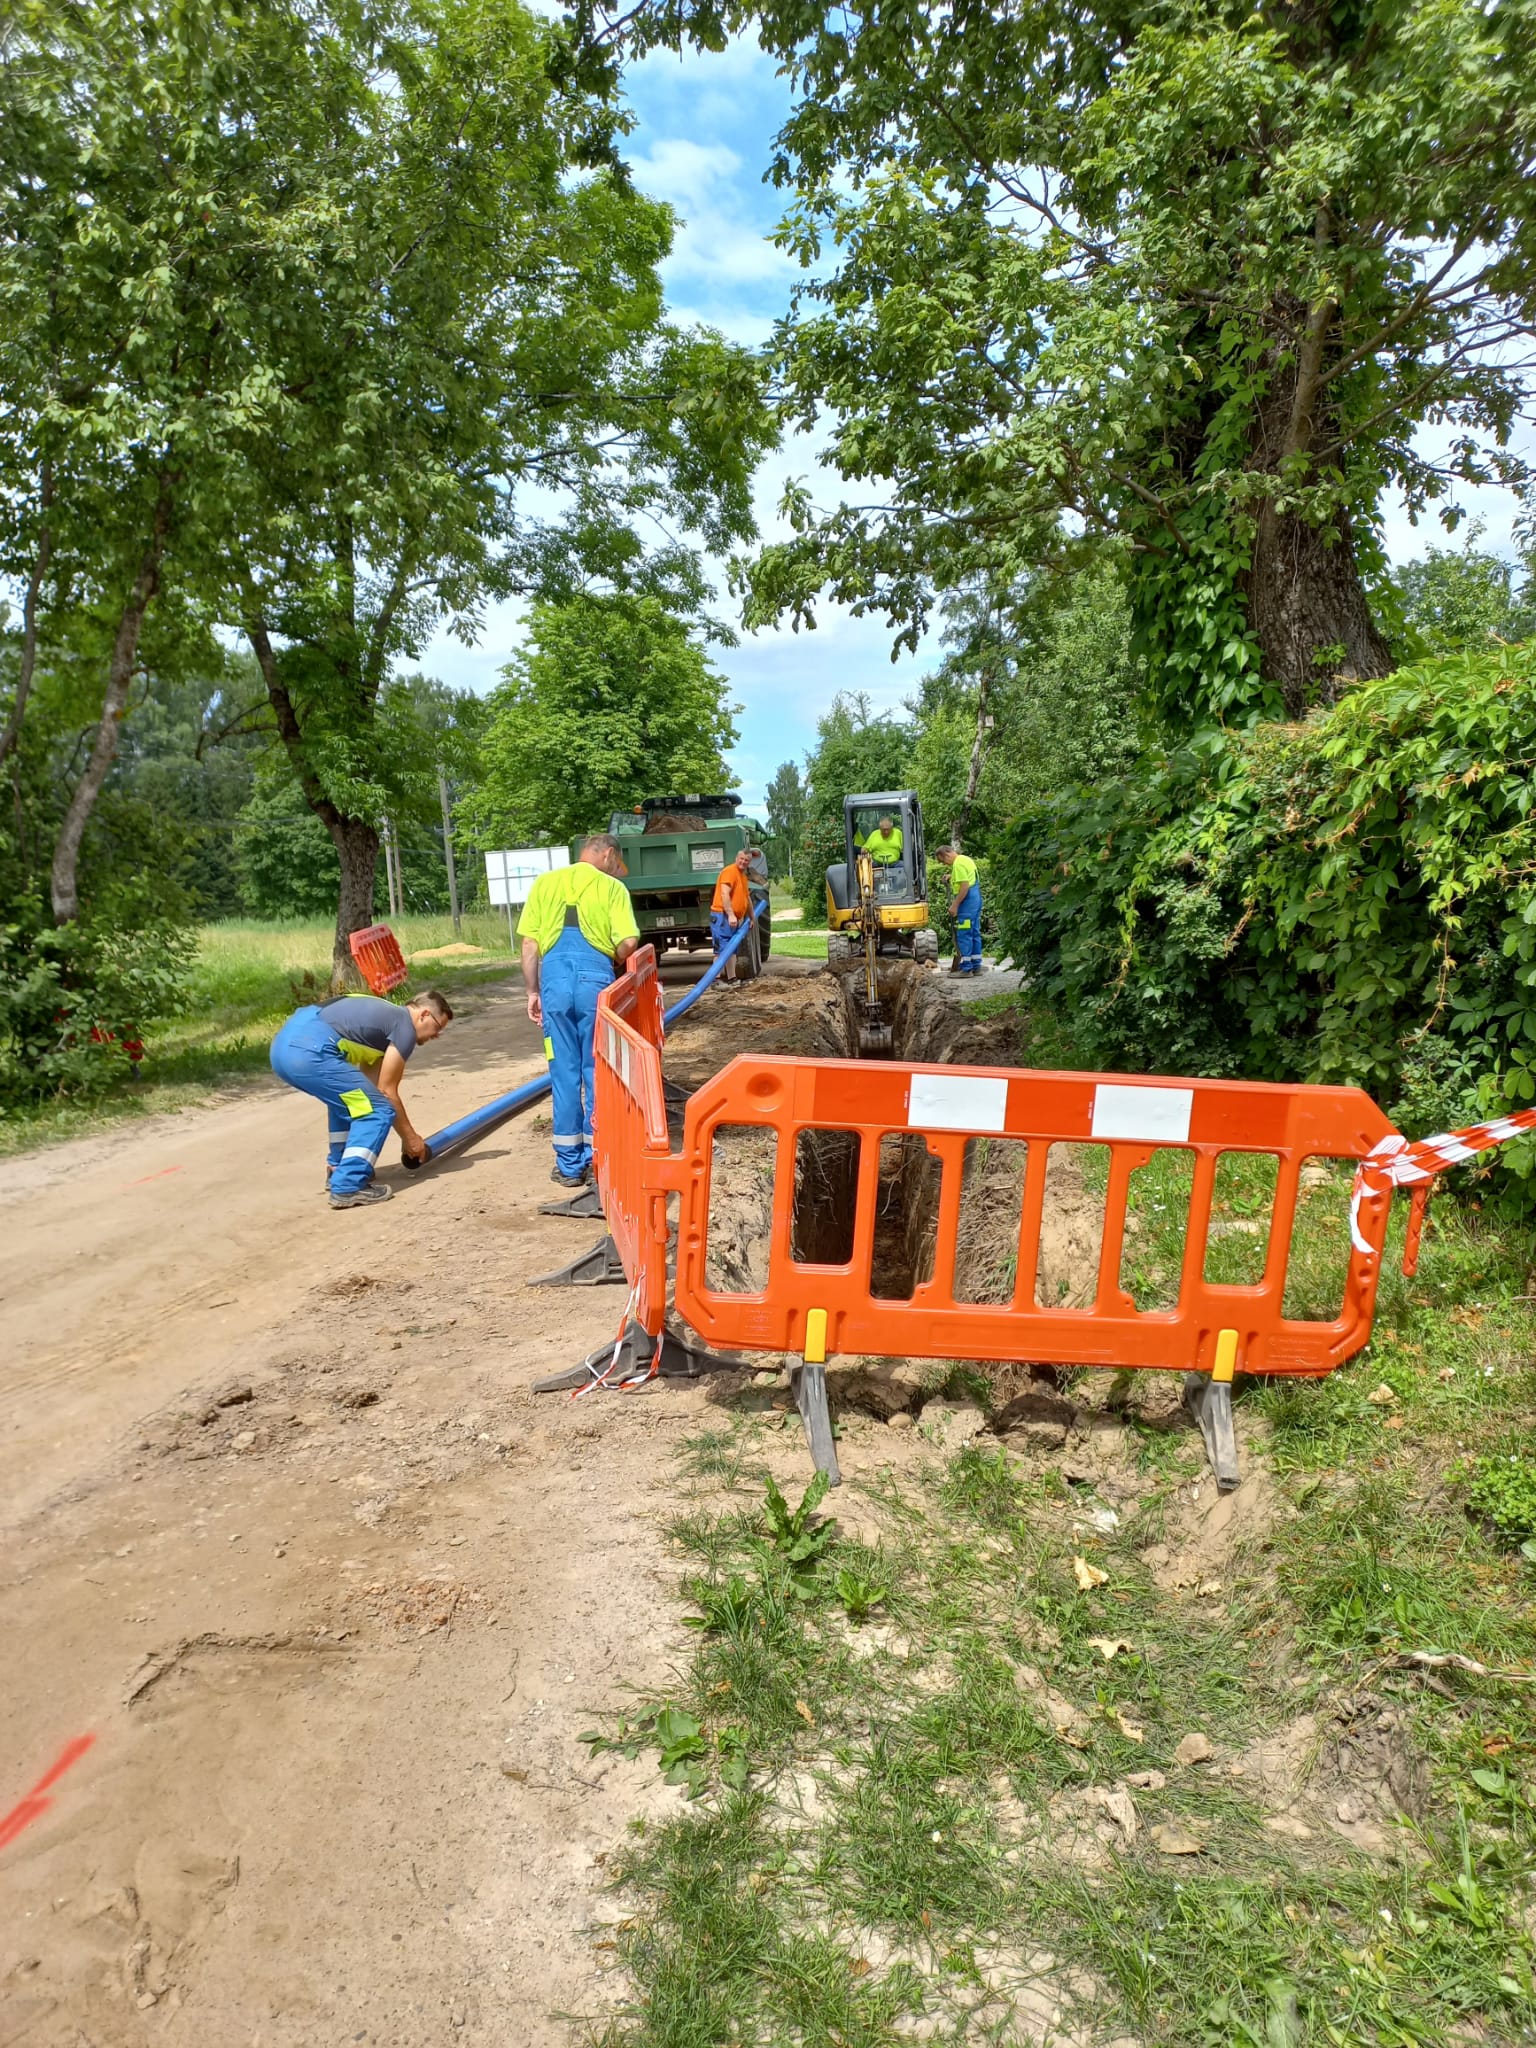
<path fill-rule="evenodd" d="M 51 850 L 59 922 L 147 625 L 170 608 L 186 637 L 227 551 L 233 444 L 270 416 L 262 319 L 324 252 L 328 223 L 254 141 L 303 68 L 283 8 L 16 0 L 0 29 L 0 575 L 23 612 L 0 760 L 39 659 L 96 670 Z"/>

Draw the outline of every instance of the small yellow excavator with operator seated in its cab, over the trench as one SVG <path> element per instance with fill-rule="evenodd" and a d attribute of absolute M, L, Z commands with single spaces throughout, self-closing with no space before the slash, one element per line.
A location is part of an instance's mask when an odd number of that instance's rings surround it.
<path fill-rule="evenodd" d="M 846 797 L 846 858 L 827 868 L 827 967 L 864 967 L 860 1053 L 891 1053 L 891 1026 L 879 993 L 879 958 L 938 961 L 938 932 L 928 924 L 928 854 L 918 793 L 874 791 Z"/>

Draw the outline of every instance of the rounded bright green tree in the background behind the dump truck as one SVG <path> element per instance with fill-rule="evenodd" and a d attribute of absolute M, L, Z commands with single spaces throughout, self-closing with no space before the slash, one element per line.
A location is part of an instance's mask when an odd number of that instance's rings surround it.
<path fill-rule="evenodd" d="M 657 598 L 535 606 L 504 678 L 463 805 L 481 848 L 606 831 L 643 797 L 727 786 L 725 678 Z"/>

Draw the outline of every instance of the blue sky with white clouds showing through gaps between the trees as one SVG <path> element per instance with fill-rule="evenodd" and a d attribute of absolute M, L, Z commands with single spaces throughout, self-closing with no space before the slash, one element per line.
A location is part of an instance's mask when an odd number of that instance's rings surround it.
<path fill-rule="evenodd" d="M 707 322 L 748 344 L 766 340 L 799 276 L 768 240 L 784 195 L 764 184 L 764 172 L 788 111 L 774 61 L 741 39 L 721 55 L 653 51 L 629 72 L 627 94 L 637 184 L 678 213 L 664 270 L 674 317 Z M 1434 442 L 1421 436 L 1421 444 Z M 836 475 L 819 467 L 813 442 L 786 442 L 758 477 L 758 528 L 766 539 L 782 530 L 778 498 L 786 477 L 797 475 L 817 479 L 821 504 L 842 494 Z M 1462 494 L 1462 504 L 1485 520 L 1487 547 L 1511 551 L 1513 506 L 1501 492 Z M 1395 561 L 1421 555 L 1432 541 L 1446 545 L 1438 522 L 1413 528 L 1399 506 L 1386 508 L 1384 526 Z M 723 586 L 721 616 L 737 625 Z M 520 621 L 518 606 L 494 608 L 477 647 L 438 635 L 422 668 L 459 688 L 487 690 L 522 637 Z M 735 647 L 715 651 L 741 705 L 733 786 L 758 807 L 774 768 L 811 748 L 815 721 L 838 690 L 864 690 L 877 709 L 899 709 L 934 657 L 928 641 L 920 655 L 893 664 L 891 633 L 879 618 L 852 618 L 831 604 L 819 608 L 813 633 L 739 633 Z"/>

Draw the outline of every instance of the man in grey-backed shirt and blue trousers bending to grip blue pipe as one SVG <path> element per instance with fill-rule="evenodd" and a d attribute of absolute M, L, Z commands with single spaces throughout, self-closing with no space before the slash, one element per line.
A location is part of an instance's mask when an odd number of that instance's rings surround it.
<path fill-rule="evenodd" d="M 373 1169 L 389 1126 L 399 1124 L 406 1153 L 426 1159 L 426 1139 L 406 1114 L 399 1083 L 418 1044 L 453 1024 L 446 995 L 426 989 L 410 1004 L 383 995 L 338 995 L 295 1010 L 272 1040 L 272 1073 L 326 1104 L 326 1186 L 332 1208 L 387 1202 Z"/>

